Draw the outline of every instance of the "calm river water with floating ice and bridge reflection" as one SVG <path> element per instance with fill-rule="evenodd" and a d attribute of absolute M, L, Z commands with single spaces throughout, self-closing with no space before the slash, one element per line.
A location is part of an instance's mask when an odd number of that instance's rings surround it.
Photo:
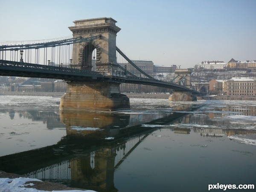
<path fill-rule="evenodd" d="M 103 112 L 59 100 L 0 96 L 0 170 L 98 192 L 256 185 L 253 101 L 131 98 L 131 110 Z"/>

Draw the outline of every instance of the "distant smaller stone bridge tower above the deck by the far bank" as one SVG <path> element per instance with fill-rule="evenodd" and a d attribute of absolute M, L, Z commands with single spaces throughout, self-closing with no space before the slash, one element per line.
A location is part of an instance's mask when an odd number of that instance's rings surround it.
<path fill-rule="evenodd" d="M 183 86 L 188 87 L 188 88 L 191 88 L 190 76 L 191 76 L 192 72 L 193 72 L 192 68 L 176 69 L 175 70 L 174 83 L 183 85 Z"/>

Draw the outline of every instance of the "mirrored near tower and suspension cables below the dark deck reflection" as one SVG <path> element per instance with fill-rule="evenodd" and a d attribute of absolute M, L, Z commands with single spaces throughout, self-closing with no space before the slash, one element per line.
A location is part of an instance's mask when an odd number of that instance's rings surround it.
<path fill-rule="evenodd" d="M 142 134 L 131 137 L 121 143 L 105 143 L 105 146 L 97 149 L 90 148 L 86 151 L 82 146 L 78 148 L 79 144 L 75 142 L 73 145 L 76 145 L 76 148 L 72 148 L 73 154 L 68 160 L 61 160 L 58 163 L 48 162 L 48 166 L 25 175 L 99 192 L 118 191 L 113 183 L 115 168 L 146 136 L 147 134 Z M 61 143 L 65 141 L 62 140 Z M 55 148 L 55 156 L 63 156 L 66 153 L 66 147 L 58 146 L 61 150 Z"/>

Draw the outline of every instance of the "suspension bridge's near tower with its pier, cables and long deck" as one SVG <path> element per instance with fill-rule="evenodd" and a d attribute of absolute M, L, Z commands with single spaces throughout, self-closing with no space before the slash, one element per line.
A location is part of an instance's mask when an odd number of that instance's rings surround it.
<path fill-rule="evenodd" d="M 67 94 L 61 98 L 63 109 L 129 108 L 129 99 L 120 94 L 121 83 L 166 87 L 191 95 L 190 84 L 154 79 L 116 47 L 120 28 L 112 18 L 74 23 L 75 26 L 69 27 L 72 38 L 0 46 L 0 75 L 68 81 Z"/>

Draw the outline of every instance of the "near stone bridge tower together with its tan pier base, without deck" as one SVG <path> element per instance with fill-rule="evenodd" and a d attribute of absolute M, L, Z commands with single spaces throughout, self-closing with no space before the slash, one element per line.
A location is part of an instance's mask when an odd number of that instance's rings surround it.
<path fill-rule="evenodd" d="M 101 35 L 101 38 L 81 42 L 73 46 L 72 67 L 92 70 L 93 50 L 96 49 L 96 71 L 104 76 L 117 70 L 116 33 L 120 28 L 116 20 L 102 17 L 74 21 L 69 27 L 75 38 Z M 67 92 L 61 97 L 61 110 L 116 111 L 130 109 L 129 98 L 120 93 L 120 83 L 116 82 L 79 82 L 67 83 Z"/>

